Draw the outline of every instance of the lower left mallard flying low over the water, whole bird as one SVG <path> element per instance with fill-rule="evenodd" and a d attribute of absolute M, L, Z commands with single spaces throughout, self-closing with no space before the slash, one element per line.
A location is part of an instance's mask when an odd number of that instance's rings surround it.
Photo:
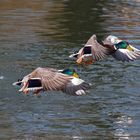
<path fill-rule="evenodd" d="M 90 84 L 78 77 L 74 69 L 56 70 L 39 67 L 13 85 L 22 85 L 19 92 L 25 94 L 30 91 L 38 95 L 41 91 L 61 90 L 69 95 L 84 95 Z"/>

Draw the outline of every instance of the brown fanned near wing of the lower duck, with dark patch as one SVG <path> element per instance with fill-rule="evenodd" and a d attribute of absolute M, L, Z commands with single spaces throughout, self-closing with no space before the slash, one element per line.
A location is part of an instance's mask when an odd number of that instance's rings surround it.
<path fill-rule="evenodd" d="M 39 67 L 23 78 L 21 81 L 23 86 L 19 91 L 24 92 L 28 88 L 31 91 L 30 89 L 35 89 L 35 87 L 42 87 L 46 91 L 61 90 L 71 79 L 71 77 L 59 73 L 55 69 Z M 16 82 L 15 84 L 17 85 L 18 83 Z"/>

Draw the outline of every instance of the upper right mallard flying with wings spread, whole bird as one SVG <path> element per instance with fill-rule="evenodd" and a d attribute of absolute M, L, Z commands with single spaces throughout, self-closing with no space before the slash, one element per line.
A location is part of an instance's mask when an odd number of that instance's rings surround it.
<path fill-rule="evenodd" d="M 130 45 L 127 41 L 113 35 L 107 36 L 99 43 L 94 34 L 84 47 L 69 57 L 76 58 L 78 64 L 92 64 L 109 55 L 113 56 L 116 60 L 129 62 L 140 57 L 140 50 Z"/>

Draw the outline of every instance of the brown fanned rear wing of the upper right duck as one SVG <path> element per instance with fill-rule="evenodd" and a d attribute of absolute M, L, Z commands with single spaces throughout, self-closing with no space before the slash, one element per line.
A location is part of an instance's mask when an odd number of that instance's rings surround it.
<path fill-rule="evenodd" d="M 85 44 L 85 47 L 91 47 L 93 59 L 98 61 L 103 59 L 108 54 L 108 49 L 97 42 L 96 35 L 92 35 Z"/>

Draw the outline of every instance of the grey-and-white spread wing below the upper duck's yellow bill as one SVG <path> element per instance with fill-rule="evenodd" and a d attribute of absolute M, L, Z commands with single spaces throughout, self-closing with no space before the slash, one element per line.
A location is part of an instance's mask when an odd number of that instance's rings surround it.
<path fill-rule="evenodd" d="M 132 46 L 131 46 L 132 47 Z M 112 54 L 114 58 L 116 58 L 119 61 L 133 61 L 140 57 L 140 50 L 132 47 L 132 50 L 128 49 L 117 49 L 115 53 Z"/>

